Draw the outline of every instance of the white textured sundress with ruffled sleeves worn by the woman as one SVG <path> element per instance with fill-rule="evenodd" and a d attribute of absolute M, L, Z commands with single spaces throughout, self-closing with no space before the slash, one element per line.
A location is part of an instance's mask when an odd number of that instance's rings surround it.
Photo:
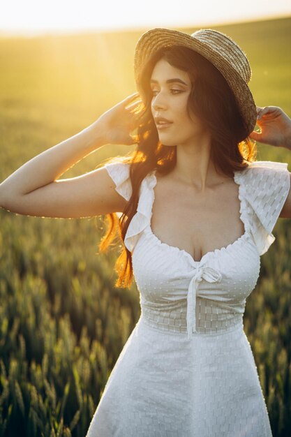
<path fill-rule="evenodd" d="M 129 200 L 129 165 L 110 163 Z M 151 230 L 156 172 L 142 181 L 126 233 L 141 316 L 107 381 L 87 437 L 270 437 L 251 346 L 246 297 L 290 189 L 285 163 L 234 173 L 244 235 L 197 262 Z"/>

